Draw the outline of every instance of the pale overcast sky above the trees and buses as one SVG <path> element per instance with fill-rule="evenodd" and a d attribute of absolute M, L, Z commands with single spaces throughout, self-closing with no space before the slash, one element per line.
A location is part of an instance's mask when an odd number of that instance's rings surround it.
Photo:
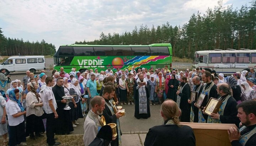
<path fill-rule="evenodd" d="M 238 9 L 251 0 L 223 0 Z M 55 45 L 95 40 L 100 33 L 123 33 L 134 26 L 149 28 L 167 21 L 172 26 L 188 22 L 218 0 L 1 0 L 0 27 L 10 38 L 30 42 L 44 39 Z"/>

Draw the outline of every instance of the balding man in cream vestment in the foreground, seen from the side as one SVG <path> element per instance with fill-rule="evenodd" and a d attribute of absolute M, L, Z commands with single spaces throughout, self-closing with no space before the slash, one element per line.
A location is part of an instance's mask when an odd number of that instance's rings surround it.
<path fill-rule="evenodd" d="M 84 145 L 88 146 L 96 137 L 98 131 L 103 126 L 101 122 L 100 114 L 103 114 L 105 109 L 105 100 L 101 96 L 95 96 L 91 99 L 92 109 L 88 112 L 88 115 L 84 121 Z"/>

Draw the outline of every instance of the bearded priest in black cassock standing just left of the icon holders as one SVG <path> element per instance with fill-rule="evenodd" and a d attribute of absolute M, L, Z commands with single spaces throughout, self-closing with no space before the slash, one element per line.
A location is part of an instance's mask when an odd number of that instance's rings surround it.
<path fill-rule="evenodd" d="M 176 94 L 178 95 L 177 104 L 181 109 L 180 119 L 182 122 L 190 122 L 191 105 L 188 103 L 188 99 L 190 99 L 190 86 L 185 76 L 181 78 L 180 90 L 177 91 Z"/>

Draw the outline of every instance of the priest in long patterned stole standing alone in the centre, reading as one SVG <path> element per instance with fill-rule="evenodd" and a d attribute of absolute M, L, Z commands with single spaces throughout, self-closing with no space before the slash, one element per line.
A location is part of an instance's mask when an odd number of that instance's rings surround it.
<path fill-rule="evenodd" d="M 142 84 L 145 82 L 144 84 Z M 147 81 L 140 73 L 138 79 L 135 81 L 133 86 L 134 90 L 134 101 L 135 101 L 135 112 L 134 117 L 137 119 L 150 117 L 149 108 L 149 94 L 147 89 Z"/>

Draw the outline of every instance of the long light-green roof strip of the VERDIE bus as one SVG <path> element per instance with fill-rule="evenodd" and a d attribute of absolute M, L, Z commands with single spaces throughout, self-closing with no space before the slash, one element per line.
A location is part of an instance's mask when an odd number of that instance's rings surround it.
<path fill-rule="evenodd" d="M 149 45 L 88 45 L 88 44 L 71 44 L 61 46 L 72 46 L 72 47 L 171 47 L 170 43 L 163 44 L 149 44 Z"/>

